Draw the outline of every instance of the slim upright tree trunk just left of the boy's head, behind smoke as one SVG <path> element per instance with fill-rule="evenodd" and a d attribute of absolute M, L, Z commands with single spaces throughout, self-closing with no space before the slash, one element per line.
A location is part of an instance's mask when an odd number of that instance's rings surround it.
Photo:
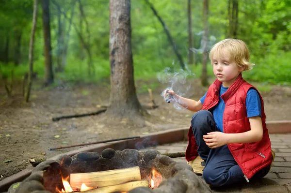
<path fill-rule="evenodd" d="M 202 55 L 202 74 L 201 74 L 201 84 L 202 86 L 208 85 L 207 78 L 207 43 L 208 43 L 208 0 L 203 0 L 203 55 Z"/>

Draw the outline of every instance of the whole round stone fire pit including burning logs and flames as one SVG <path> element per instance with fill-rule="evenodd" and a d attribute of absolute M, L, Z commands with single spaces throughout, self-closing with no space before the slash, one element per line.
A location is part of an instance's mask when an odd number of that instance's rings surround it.
<path fill-rule="evenodd" d="M 8 193 L 211 193 L 190 165 L 154 149 L 140 152 L 107 148 L 61 155 L 37 165 Z"/>

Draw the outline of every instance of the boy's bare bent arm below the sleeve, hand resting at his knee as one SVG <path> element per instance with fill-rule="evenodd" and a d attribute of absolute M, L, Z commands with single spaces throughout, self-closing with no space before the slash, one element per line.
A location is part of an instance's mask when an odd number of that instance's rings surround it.
<path fill-rule="evenodd" d="M 222 132 L 211 132 L 203 135 L 206 145 L 210 148 L 218 148 L 220 146 L 231 143 L 254 143 L 259 142 L 263 138 L 263 126 L 260 116 L 249 118 L 251 130 L 239 134 L 225 134 Z"/>

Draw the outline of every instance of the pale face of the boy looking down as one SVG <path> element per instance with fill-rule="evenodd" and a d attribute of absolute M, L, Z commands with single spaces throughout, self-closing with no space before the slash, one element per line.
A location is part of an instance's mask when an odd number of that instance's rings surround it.
<path fill-rule="evenodd" d="M 224 87 L 229 87 L 242 71 L 243 68 L 235 61 L 230 61 L 227 55 L 223 58 L 213 57 L 213 73 Z"/>

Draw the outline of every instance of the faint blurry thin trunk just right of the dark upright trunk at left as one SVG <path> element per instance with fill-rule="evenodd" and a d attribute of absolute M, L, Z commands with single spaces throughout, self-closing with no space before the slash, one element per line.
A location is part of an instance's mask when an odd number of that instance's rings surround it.
<path fill-rule="evenodd" d="M 58 17 L 58 51 L 57 51 L 57 69 L 56 72 L 63 72 L 62 56 L 63 56 L 63 27 L 62 27 L 62 14 L 60 9 L 57 9 Z"/>

